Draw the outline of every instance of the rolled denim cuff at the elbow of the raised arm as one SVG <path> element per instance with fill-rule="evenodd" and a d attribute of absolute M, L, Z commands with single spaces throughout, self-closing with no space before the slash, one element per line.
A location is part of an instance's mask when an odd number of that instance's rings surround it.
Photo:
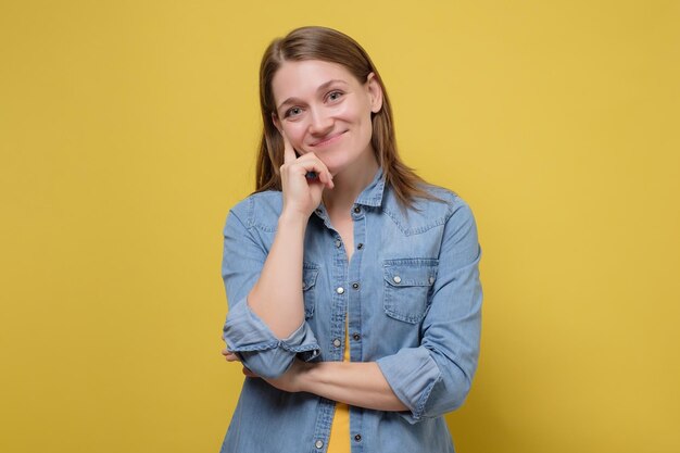
<path fill-rule="evenodd" d="M 308 362 L 320 354 L 320 347 L 306 322 L 288 338 L 278 339 L 250 310 L 245 299 L 229 311 L 223 339 L 227 349 L 236 352 L 248 369 L 267 379 L 286 373 L 295 356 Z"/>

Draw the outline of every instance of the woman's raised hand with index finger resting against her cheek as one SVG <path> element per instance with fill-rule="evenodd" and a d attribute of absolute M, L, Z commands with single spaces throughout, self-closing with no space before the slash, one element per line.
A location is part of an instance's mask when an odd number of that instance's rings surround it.
<path fill-rule="evenodd" d="M 333 188 L 332 176 L 313 152 L 298 158 L 284 131 L 281 136 L 284 137 L 284 165 L 280 167 L 284 191 L 282 214 L 300 215 L 306 219 L 322 202 L 324 189 Z M 307 178 L 308 172 L 314 172 L 316 177 Z"/>

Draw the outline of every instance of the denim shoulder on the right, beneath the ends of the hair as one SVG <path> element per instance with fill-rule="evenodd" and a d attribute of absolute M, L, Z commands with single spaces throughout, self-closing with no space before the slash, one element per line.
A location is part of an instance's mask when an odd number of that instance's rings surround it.
<path fill-rule="evenodd" d="M 425 232 L 431 228 L 450 223 L 464 224 L 473 213 L 465 200 L 456 192 L 444 187 L 424 184 L 421 188 L 430 198 L 418 197 L 408 209 L 402 209 L 390 188 L 386 189 L 382 211 L 406 235 Z"/>

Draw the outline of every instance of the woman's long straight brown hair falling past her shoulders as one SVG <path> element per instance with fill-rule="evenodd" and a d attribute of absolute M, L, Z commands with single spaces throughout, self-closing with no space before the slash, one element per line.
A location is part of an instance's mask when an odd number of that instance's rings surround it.
<path fill-rule="evenodd" d="M 255 192 L 281 190 L 279 167 L 284 164 L 284 139 L 274 125 L 276 114 L 272 79 L 286 61 L 320 60 L 344 66 L 363 84 L 370 73 L 382 88 L 382 108 L 372 113 L 372 144 L 382 167 L 386 183 L 392 188 L 402 207 L 413 205 L 416 197 L 436 199 L 423 189 L 425 181 L 407 167 L 396 152 L 392 108 L 378 70 L 366 51 L 349 36 L 325 27 L 302 27 L 277 38 L 267 47 L 260 65 L 260 106 L 264 125 Z"/>

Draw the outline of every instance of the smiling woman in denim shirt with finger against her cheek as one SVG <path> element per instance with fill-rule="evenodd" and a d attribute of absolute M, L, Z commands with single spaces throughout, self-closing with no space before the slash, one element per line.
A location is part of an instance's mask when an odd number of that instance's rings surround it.
<path fill-rule="evenodd" d="M 399 159 L 378 71 L 304 27 L 260 71 L 257 190 L 229 213 L 227 361 L 247 379 L 223 452 L 453 452 L 479 352 L 469 207 Z"/>

